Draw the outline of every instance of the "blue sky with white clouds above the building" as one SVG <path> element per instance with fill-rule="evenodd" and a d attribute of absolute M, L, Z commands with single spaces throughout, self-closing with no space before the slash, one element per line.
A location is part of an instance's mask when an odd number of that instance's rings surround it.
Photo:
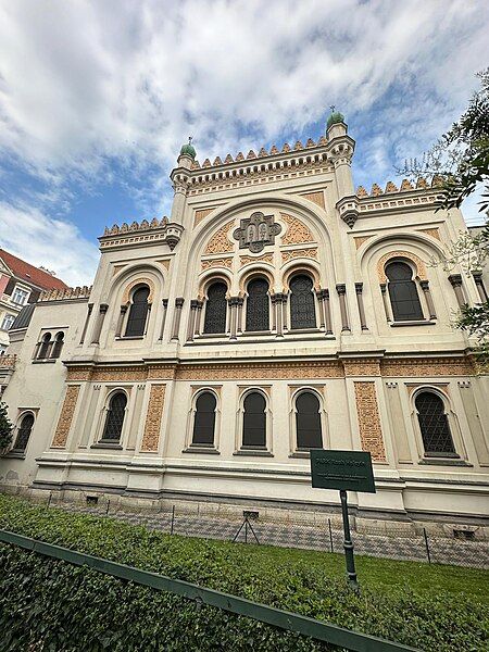
<path fill-rule="evenodd" d="M 399 184 L 488 34 L 487 0 L 0 0 L 0 246 L 89 285 L 105 225 L 170 213 L 189 135 L 224 160 L 317 139 L 331 104 L 355 186 Z"/>

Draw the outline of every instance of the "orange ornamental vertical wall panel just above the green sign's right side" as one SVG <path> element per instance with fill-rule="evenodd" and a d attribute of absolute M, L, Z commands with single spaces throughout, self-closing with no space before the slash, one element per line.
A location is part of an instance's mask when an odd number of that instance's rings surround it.
<path fill-rule="evenodd" d="M 375 383 L 358 380 L 354 383 L 354 388 L 362 449 L 368 451 L 375 462 L 385 462 L 386 449 L 384 447 Z"/>

